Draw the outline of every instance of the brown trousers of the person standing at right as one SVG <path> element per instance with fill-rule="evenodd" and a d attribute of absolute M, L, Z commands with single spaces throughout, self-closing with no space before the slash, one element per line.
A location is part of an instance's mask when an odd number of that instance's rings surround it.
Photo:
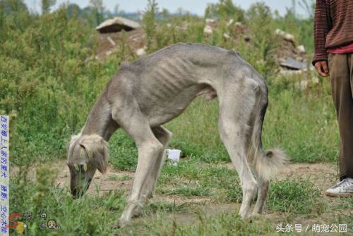
<path fill-rule="evenodd" d="M 328 54 L 328 68 L 340 129 L 340 180 L 353 178 L 353 54 Z"/>

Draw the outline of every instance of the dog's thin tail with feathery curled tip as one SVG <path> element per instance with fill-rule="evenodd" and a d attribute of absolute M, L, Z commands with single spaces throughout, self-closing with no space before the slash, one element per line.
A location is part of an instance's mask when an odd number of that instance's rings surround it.
<path fill-rule="evenodd" d="M 261 136 L 263 119 L 268 106 L 267 94 L 264 95 L 266 96 L 259 101 L 261 108 L 258 111 L 258 116 L 254 119 L 253 133 L 251 135 L 248 154 L 251 167 L 256 172 L 256 176 L 262 180 L 270 180 L 289 159 L 285 152 L 278 148 L 263 151 Z"/>

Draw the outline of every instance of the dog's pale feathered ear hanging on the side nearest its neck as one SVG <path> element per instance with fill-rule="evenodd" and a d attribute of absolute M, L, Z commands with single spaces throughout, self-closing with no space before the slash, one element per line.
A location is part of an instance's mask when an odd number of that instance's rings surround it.
<path fill-rule="evenodd" d="M 108 142 L 98 135 L 84 135 L 80 139 L 80 145 L 87 152 L 89 161 L 100 170 L 100 173 L 106 173 L 108 166 Z"/>

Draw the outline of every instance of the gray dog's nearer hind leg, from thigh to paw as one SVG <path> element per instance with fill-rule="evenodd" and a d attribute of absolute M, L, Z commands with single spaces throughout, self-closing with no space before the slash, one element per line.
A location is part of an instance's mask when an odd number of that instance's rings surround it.
<path fill-rule="evenodd" d="M 237 169 L 243 190 L 243 202 L 239 211 L 241 218 L 249 216 L 251 201 L 258 189 L 247 160 L 251 142 L 249 124 L 251 111 L 256 106 L 256 89 L 256 82 L 244 79 L 237 84 L 227 85 L 227 88 L 220 92 L 217 91 L 220 97 L 220 137 Z"/>

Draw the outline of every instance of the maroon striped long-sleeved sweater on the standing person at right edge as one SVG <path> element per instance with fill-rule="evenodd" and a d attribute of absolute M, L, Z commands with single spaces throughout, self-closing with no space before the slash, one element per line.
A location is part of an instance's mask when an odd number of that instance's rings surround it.
<path fill-rule="evenodd" d="M 328 49 L 353 43 L 353 0 L 316 0 L 314 18 L 316 61 L 328 61 Z"/>

